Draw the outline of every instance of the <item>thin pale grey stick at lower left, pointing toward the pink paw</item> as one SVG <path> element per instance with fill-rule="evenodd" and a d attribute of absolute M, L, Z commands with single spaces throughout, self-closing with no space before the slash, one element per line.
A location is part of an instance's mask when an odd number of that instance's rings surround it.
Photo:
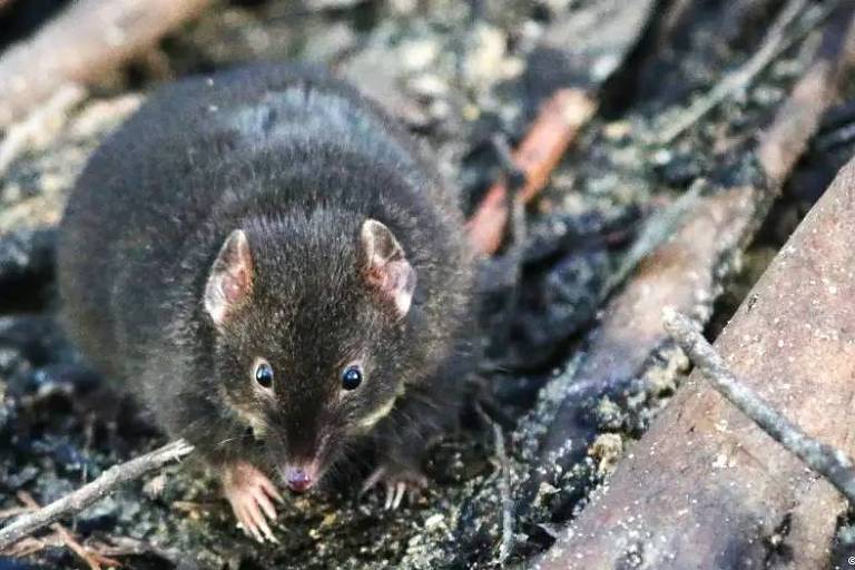
<path fill-rule="evenodd" d="M 139 458 L 111 466 L 95 481 L 57 499 L 47 507 L 21 514 L 0 529 L 0 551 L 62 517 L 82 511 L 118 487 L 156 471 L 170 461 L 177 461 L 190 452 L 193 452 L 193 445 L 184 440 L 178 440 Z"/>

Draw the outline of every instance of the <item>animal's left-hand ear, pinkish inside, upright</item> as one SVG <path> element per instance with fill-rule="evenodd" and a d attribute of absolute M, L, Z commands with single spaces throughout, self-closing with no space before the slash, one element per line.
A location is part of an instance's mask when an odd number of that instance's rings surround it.
<path fill-rule="evenodd" d="M 249 242 L 243 229 L 235 229 L 219 248 L 205 285 L 205 309 L 215 325 L 223 326 L 229 312 L 249 295 L 252 286 Z"/>

